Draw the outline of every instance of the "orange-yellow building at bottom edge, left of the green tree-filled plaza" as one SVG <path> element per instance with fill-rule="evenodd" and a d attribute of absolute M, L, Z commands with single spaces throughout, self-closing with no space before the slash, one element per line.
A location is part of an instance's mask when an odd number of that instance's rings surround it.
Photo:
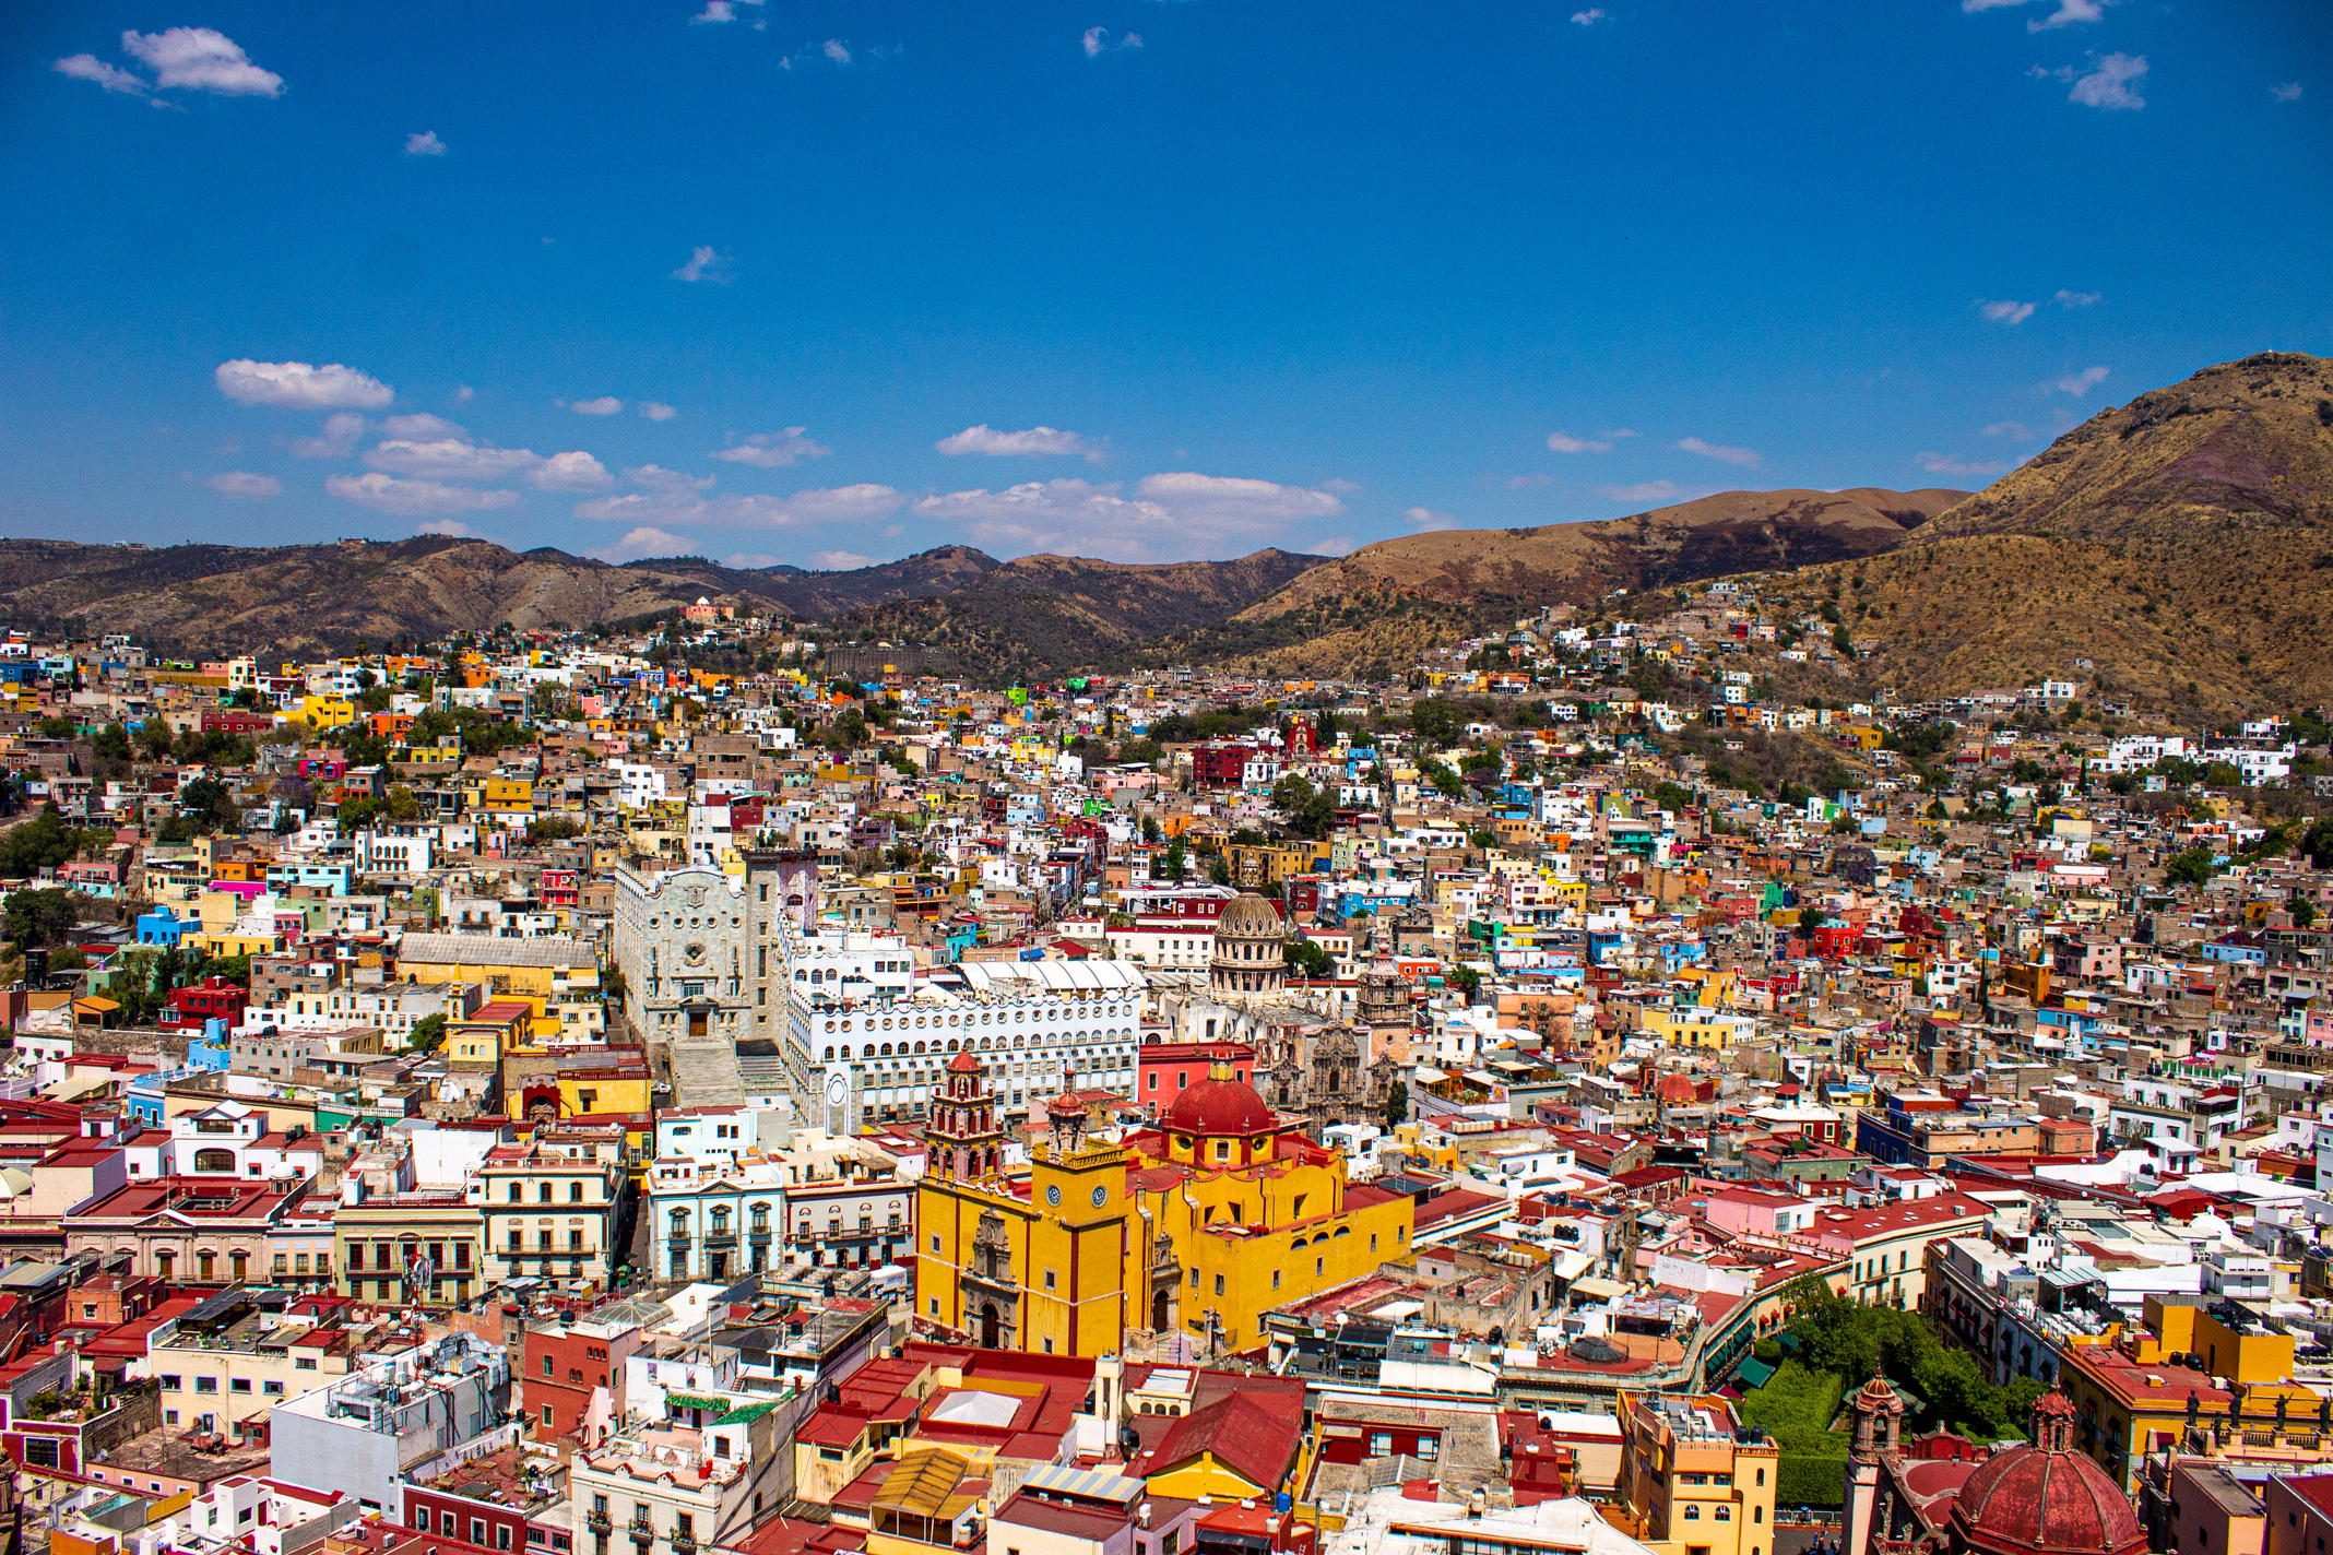
<path fill-rule="evenodd" d="M 1766 1555 L 1782 1455 L 1764 1431 L 1743 1434 L 1717 1394 L 1621 1392 L 1626 1511 L 1607 1515 L 1656 1555 Z"/>

